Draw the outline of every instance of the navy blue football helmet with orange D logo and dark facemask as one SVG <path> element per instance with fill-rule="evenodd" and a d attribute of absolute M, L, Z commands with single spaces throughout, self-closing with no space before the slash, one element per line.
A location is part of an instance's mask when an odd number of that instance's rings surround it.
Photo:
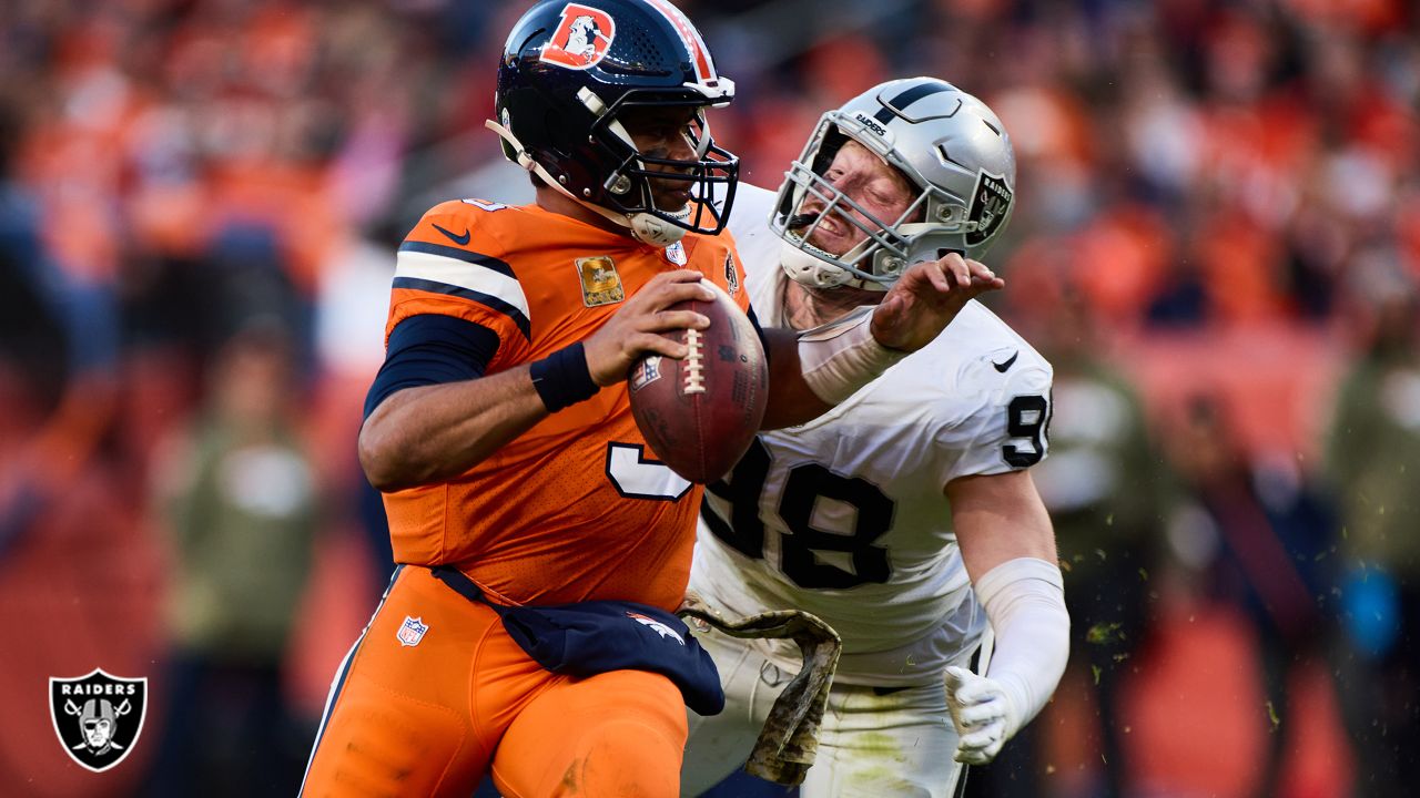
<path fill-rule="evenodd" d="M 734 81 L 716 72 L 700 33 L 669 0 L 548 0 L 513 26 L 488 126 L 510 160 L 667 246 L 686 230 L 716 234 L 728 219 L 740 160 L 716 146 L 704 109 L 733 97 Z M 648 106 L 693 109 L 694 159 L 636 151 L 619 116 Z M 650 179 L 690 183 L 692 202 L 656 207 Z"/>

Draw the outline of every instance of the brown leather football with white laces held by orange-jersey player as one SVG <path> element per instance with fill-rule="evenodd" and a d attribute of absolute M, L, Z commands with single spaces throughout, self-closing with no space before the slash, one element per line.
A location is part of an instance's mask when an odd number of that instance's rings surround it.
<path fill-rule="evenodd" d="M 680 329 L 670 338 L 690 354 L 676 361 L 648 355 L 630 368 L 630 412 L 652 453 L 694 483 L 714 481 L 740 460 L 764 419 L 770 372 L 750 317 L 723 288 L 714 301 L 684 301 L 710 318 L 706 329 Z"/>

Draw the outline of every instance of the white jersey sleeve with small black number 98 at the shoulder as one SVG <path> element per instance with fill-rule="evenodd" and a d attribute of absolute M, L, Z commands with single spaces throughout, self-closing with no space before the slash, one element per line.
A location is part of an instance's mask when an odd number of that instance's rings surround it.
<path fill-rule="evenodd" d="M 1024 362 L 997 373 L 991 361 L 976 361 L 961 375 L 977 390 L 956 390 L 968 400 L 947 413 L 934 444 L 941 452 L 941 484 L 967 476 L 1001 474 L 1028 469 L 1049 452 L 1052 369 L 1044 358 L 1021 352 Z"/>

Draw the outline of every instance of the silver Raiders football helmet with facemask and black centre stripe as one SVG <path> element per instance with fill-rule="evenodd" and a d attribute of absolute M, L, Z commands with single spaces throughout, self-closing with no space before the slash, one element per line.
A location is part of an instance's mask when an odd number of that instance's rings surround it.
<path fill-rule="evenodd" d="M 849 139 L 913 186 L 916 197 L 897 219 L 875 217 L 825 177 Z M 886 291 L 913 263 L 949 251 L 983 256 L 1005 229 L 1014 197 L 1015 153 L 997 115 L 946 81 L 906 78 L 824 114 L 784 173 L 770 227 L 784 239 L 780 260 L 795 281 Z M 846 253 L 814 246 L 829 216 L 868 237 Z"/>

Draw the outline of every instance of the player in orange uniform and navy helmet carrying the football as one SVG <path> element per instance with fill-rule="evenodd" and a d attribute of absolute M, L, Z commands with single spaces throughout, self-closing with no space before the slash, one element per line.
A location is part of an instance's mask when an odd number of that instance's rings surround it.
<path fill-rule="evenodd" d="M 504 152 L 537 202 L 436 206 L 399 247 L 359 457 L 400 564 L 331 686 L 308 795 L 673 797 L 686 713 L 723 703 L 672 615 L 701 486 L 648 457 L 625 386 L 662 335 L 741 308 L 717 236 L 737 160 L 704 109 L 734 84 L 667 0 L 551 0 L 498 70 Z M 717 210 L 716 202 L 724 200 Z M 802 339 L 765 329 L 765 426 L 808 420 L 1004 284 L 960 256 Z"/>

